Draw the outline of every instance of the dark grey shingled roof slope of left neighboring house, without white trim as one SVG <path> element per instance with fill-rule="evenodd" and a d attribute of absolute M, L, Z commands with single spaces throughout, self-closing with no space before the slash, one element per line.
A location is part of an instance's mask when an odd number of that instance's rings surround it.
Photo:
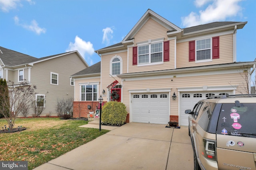
<path fill-rule="evenodd" d="M 3 66 L 18 66 L 24 63 L 28 63 L 32 60 L 37 59 L 26 54 L 22 54 L 4 47 L 0 47 L 0 59 L 2 60 Z M 2 52 L 2 53 L 1 53 Z"/>

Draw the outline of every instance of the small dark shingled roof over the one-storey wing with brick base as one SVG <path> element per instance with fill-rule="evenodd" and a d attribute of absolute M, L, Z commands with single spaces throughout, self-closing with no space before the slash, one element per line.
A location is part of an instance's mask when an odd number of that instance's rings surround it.
<path fill-rule="evenodd" d="M 73 75 L 71 75 L 71 77 L 79 77 L 79 76 L 91 76 L 91 75 L 100 75 L 100 69 L 101 68 L 101 63 L 98 62 L 88 68 L 85 68 L 84 70 L 81 70 Z"/>

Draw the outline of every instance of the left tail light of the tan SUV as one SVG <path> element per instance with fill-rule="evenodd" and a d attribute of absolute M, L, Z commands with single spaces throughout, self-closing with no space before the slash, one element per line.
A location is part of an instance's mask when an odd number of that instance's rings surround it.
<path fill-rule="evenodd" d="M 216 141 L 203 138 L 204 148 L 202 149 L 202 155 L 210 160 L 217 160 L 216 157 Z"/>

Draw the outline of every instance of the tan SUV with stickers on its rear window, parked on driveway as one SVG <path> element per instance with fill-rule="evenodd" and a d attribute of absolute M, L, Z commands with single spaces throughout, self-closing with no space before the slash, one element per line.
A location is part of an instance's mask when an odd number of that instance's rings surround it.
<path fill-rule="evenodd" d="M 212 96 L 185 113 L 194 170 L 256 170 L 256 94 Z"/>

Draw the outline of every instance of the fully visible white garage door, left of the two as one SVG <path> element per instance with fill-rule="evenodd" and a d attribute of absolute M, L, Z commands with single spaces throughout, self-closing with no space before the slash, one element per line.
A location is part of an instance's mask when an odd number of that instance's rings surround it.
<path fill-rule="evenodd" d="M 169 94 L 132 94 L 132 122 L 167 124 Z"/>

